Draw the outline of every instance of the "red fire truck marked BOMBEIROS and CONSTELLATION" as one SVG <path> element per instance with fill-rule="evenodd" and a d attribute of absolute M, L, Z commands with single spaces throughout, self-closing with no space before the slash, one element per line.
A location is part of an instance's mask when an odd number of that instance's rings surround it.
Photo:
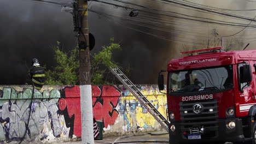
<path fill-rule="evenodd" d="M 216 47 L 182 53 L 190 56 L 172 59 L 167 67 L 170 143 L 255 144 L 256 50 Z"/>

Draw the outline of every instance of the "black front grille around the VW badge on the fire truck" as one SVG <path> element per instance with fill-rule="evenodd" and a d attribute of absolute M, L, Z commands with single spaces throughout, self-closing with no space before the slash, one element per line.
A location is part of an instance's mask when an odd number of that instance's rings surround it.
<path fill-rule="evenodd" d="M 195 104 L 202 106 L 201 113 L 193 112 Z M 203 126 L 208 131 L 209 137 L 217 136 L 217 133 L 215 133 L 218 131 L 218 103 L 216 99 L 183 101 L 179 103 L 179 110 L 181 112 L 182 132 L 188 132 L 189 128 L 201 128 Z M 204 137 L 208 137 L 207 133 Z"/>

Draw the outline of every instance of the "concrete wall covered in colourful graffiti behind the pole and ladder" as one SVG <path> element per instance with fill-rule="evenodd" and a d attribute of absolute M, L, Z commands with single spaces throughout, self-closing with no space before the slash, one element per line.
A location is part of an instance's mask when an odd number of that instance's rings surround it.
<path fill-rule="evenodd" d="M 166 95 L 156 85 L 138 86 L 166 116 Z M 34 90 L 30 110 L 32 87 L 0 86 L 0 141 L 26 140 L 53 142 L 76 139 L 81 136 L 79 86 L 44 86 Z M 124 135 L 139 131 L 159 130 L 155 121 L 138 100 L 123 85 L 92 86 L 94 117 L 102 121 L 104 136 Z"/>

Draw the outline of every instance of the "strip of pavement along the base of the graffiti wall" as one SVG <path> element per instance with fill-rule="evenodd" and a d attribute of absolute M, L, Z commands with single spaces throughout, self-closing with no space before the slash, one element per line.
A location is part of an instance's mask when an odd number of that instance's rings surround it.
<path fill-rule="evenodd" d="M 95 144 L 104 143 L 168 143 L 169 137 L 166 131 L 154 131 L 150 133 L 139 133 L 134 135 L 124 135 L 115 137 L 103 137 L 103 140 L 95 140 Z M 71 141 L 71 142 L 56 142 L 56 144 L 80 144 L 81 141 Z"/>

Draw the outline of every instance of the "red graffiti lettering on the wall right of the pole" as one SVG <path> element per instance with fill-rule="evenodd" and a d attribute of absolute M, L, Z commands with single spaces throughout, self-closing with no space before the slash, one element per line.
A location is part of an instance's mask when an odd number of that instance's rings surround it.
<path fill-rule="evenodd" d="M 92 89 L 92 93 L 98 92 L 98 89 L 100 88 Z M 104 127 L 107 128 L 108 125 L 113 125 L 118 117 L 118 111 L 115 107 L 121 93 L 113 86 L 102 86 L 101 97 L 99 94 L 97 95 L 98 98 L 92 97 L 92 104 L 96 102 L 93 108 L 94 117 L 97 120 L 103 120 Z"/>

